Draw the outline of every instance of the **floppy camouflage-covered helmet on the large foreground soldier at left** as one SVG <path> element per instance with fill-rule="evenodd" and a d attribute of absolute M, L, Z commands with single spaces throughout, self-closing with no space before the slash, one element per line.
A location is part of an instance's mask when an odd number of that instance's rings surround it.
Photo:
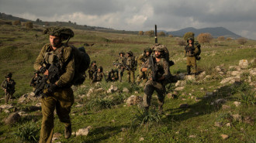
<path fill-rule="evenodd" d="M 49 27 L 45 30 L 43 30 L 43 34 L 48 34 L 50 36 L 59 36 L 61 37 L 61 40 L 68 40 L 71 39 L 71 37 L 74 37 L 74 32 L 71 29 L 65 28 L 65 27 Z"/>

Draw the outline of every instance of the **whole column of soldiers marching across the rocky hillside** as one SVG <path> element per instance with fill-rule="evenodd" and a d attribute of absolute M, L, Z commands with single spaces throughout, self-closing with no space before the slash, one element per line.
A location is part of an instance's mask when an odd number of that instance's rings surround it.
<path fill-rule="evenodd" d="M 57 116 L 60 121 L 64 123 L 64 137 L 71 137 L 71 106 L 74 104 L 74 94 L 71 89 L 74 77 L 76 76 L 75 56 L 72 56 L 72 46 L 67 43 L 62 43 L 74 36 L 71 29 L 65 28 L 48 28 L 44 31 L 49 35 L 50 43 L 43 46 L 39 56 L 34 63 L 34 77 L 30 81 L 30 86 L 33 87 L 35 94 L 42 94 L 42 124 L 40 131 L 40 142 L 51 142 L 54 130 L 54 111 L 56 110 Z M 67 36 L 67 33 L 69 35 Z M 185 46 L 185 56 L 187 57 L 187 72 L 188 74 L 196 75 L 196 60 L 199 60 L 198 46 L 194 45 L 193 37 L 187 40 L 188 45 Z M 88 62 L 89 64 L 89 62 Z M 116 69 L 109 71 L 106 76 L 103 73 L 102 66 L 97 66 L 96 61 L 93 60 L 88 68 L 88 78 L 92 83 L 100 82 L 102 79 L 106 82 L 123 82 L 123 73 L 126 70 L 127 82 L 137 83 L 139 85 L 142 81 L 144 86 L 143 105 L 144 113 L 149 111 L 151 97 L 154 90 L 157 92 L 158 111 L 163 113 L 165 86 L 168 83 L 175 82 L 171 76 L 169 67 L 174 63 L 169 60 L 169 53 L 166 46 L 155 44 L 151 48 L 144 49 L 144 52 L 137 58 L 132 51 L 126 53 L 120 52 L 119 58 L 113 63 Z M 60 74 L 52 75 L 50 71 L 54 69 L 55 65 L 61 66 Z M 137 67 L 138 66 L 138 67 Z M 135 71 L 138 70 L 139 74 L 135 79 Z M 41 77 L 39 74 L 43 74 Z M 83 73 L 85 74 L 85 72 Z M 58 78 L 52 82 L 51 77 Z M 84 81 L 84 80 L 83 80 Z M 42 83 L 49 83 L 47 89 L 41 89 L 40 92 L 37 88 L 44 85 Z M 9 103 L 12 95 L 15 93 L 16 82 L 12 80 L 12 73 L 5 76 L 2 82 L 2 89 L 5 91 L 5 104 Z M 45 87 L 45 86 L 43 86 Z"/>

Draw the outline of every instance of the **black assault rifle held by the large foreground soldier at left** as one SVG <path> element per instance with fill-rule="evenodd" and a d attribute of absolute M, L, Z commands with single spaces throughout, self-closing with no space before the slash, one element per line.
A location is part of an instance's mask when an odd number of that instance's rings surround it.
<path fill-rule="evenodd" d="M 48 68 L 48 76 L 43 75 L 42 80 L 40 80 L 40 83 L 37 84 L 36 90 L 34 91 L 35 97 L 39 97 L 42 95 L 43 97 L 47 97 L 47 94 L 43 93 L 43 90 L 50 87 L 50 83 L 55 83 L 60 78 L 60 67 L 58 64 L 51 64 Z M 47 83 L 47 80 L 50 81 L 50 83 Z"/>

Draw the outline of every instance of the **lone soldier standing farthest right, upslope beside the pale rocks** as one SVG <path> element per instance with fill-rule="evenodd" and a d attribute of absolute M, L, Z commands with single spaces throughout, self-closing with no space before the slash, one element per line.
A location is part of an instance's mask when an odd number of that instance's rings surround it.
<path fill-rule="evenodd" d="M 189 37 L 188 45 L 185 46 L 185 56 L 187 57 L 187 72 L 188 74 L 196 75 L 196 54 L 199 49 L 194 46 L 194 39 Z M 192 70 L 191 70 L 192 69 Z"/>

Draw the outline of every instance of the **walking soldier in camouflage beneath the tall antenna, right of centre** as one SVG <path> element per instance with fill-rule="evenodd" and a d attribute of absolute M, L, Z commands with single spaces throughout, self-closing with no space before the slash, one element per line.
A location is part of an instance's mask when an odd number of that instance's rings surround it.
<path fill-rule="evenodd" d="M 165 97 L 165 86 L 164 81 L 170 78 L 170 71 L 168 62 L 161 56 L 164 53 L 162 46 L 158 45 L 154 47 L 154 57 L 152 56 L 152 63 L 150 60 L 147 60 L 147 63 L 144 64 L 141 71 L 148 73 L 148 80 L 144 87 L 144 113 L 147 113 L 150 107 L 150 100 L 154 90 L 157 91 L 158 98 L 158 111 L 160 114 L 163 112 L 163 104 Z M 151 58 L 151 57 L 150 57 Z M 154 64 L 154 65 L 151 65 Z M 153 69 L 157 67 L 156 69 Z M 155 73 L 155 75 L 153 75 Z M 155 80 L 154 80 L 155 79 Z"/>

